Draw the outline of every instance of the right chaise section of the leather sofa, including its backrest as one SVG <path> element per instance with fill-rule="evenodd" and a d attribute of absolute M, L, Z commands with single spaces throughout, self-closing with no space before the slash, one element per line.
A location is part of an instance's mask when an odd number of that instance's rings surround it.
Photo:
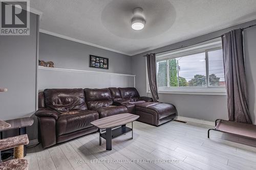
<path fill-rule="evenodd" d="M 129 113 L 139 115 L 138 121 L 159 126 L 176 116 L 176 108 L 172 104 L 153 102 L 152 98 L 140 97 L 134 87 L 110 88 L 115 105 L 124 105 Z M 118 93 L 119 91 L 119 93 Z M 143 101 L 143 102 L 142 102 Z"/>

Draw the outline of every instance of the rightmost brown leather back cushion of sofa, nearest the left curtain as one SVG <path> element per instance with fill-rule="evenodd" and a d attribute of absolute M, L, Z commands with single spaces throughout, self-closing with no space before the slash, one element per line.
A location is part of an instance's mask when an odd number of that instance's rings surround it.
<path fill-rule="evenodd" d="M 130 102 L 136 102 L 139 100 L 140 94 L 134 87 L 119 87 L 118 90 L 123 99 L 129 98 L 131 100 Z"/>

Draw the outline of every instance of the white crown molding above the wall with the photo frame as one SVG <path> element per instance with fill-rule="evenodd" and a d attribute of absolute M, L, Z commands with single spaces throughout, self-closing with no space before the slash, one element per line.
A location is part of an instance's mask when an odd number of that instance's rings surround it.
<path fill-rule="evenodd" d="M 67 39 L 67 40 L 71 40 L 71 41 L 75 41 L 75 42 L 79 42 L 79 43 L 82 43 L 82 44 L 91 45 L 91 46 L 94 46 L 94 47 L 101 48 L 103 50 L 108 50 L 108 51 L 111 51 L 111 52 L 115 52 L 115 53 L 119 53 L 119 54 L 124 54 L 124 55 L 127 55 L 127 56 L 132 56 L 131 54 L 128 54 L 128 53 L 124 53 L 124 52 L 121 52 L 121 51 L 118 51 L 118 50 L 113 50 L 113 49 L 108 48 L 108 47 L 104 47 L 104 46 L 97 45 L 97 44 L 94 44 L 94 43 L 91 43 L 91 42 L 79 40 L 79 39 L 72 38 L 72 37 L 69 37 L 69 36 L 66 36 L 66 35 L 61 35 L 61 34 L 54 33 L 54 32 L 51 32 L 51 31 L 47 31 L 47 30 L 44 30 L 44 29 L 39 29 L 39 32 L 40 33 L 45 33 L 45 34 L 48 34 L 48 35 L 52 35 L 52 36 L 55 36 L 55 37 L 59 37 L 59 38 L 63 38 L 63 39 Z"/>

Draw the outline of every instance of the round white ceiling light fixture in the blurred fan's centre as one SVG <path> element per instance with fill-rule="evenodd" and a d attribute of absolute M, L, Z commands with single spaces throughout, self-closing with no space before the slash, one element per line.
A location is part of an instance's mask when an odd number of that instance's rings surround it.
<path fill-rule="evenodd" d="M 133 10 L 133 18 L 132 18 L 132 29 L 141 30 L 144 28 L 145 19 L 142 8 L 135 8 Z"/>

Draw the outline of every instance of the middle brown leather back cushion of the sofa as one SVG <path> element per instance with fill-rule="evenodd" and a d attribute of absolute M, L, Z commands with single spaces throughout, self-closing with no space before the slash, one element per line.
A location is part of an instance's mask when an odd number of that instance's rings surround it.
<path fill-rule="evenodd" d="M 97 110 L 100 107 L 111 106 L 113 104 L 111 92 L 108 88 L 85 88 L 84 93 L 89 110 Z"/>

